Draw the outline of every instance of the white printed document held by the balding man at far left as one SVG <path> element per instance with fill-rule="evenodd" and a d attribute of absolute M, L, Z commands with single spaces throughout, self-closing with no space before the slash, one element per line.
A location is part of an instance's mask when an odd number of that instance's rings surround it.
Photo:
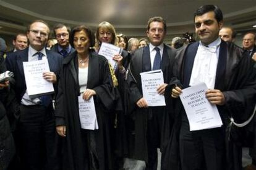
<path fill-rule="evenodd" d="M 48 59 L 23 62 L 23 70 L 30 98 L 54 93 L 53 83 L 43 79 L 43 72 L 49 72 Z"/>

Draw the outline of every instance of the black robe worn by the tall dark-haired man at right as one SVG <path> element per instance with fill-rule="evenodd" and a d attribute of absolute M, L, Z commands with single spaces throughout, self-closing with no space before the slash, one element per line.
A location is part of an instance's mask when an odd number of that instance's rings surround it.
<path fill-rule="evenodd" d="M 189 86 L 190 75 L 194 64 L 195 54 L 199 43 L 192 43 L 177 52 L 174 62 L 171 82 L 166 87 L 166 96 L 171 95 L 174 85 L 183 88 Z M 217 106 L 223 121 L 223 138 L 226 141 L 226 159 L 223 169 L 241 169 L 241 142 L 237 138 L 237 133 L 233 133 L 237 127 L 228 128 L 229 117 L 233 117 L 235 122 L 246 121 L 254 110 L 256 99 L 256 72 L 252 59 L 247 57 L 247 52 L 234 45 L 221 41 L 218 66 L 216 71 L 215 89 L 223 91 L 225 104 Z M 181 112 L 183 109 L 179 98 L 172 99 L 174 111 L 171 112 L 171 119 L 174 121 L 168 145 L 164 146 L 161 169 L 170 170 L 181 169 L 179 161 L 179 129 L 181 127 Z"/>

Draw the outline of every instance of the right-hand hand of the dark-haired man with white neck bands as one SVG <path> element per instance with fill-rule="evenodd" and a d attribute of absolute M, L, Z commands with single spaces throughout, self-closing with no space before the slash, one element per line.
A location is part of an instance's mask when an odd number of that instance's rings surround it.
<path fill-rule="evenodd" d="M 224 95 L 220 90 L 210 89 L 205 92 L 205 95 L 212 104 L 217 104 L 221 106 L 225 103 Z"/>

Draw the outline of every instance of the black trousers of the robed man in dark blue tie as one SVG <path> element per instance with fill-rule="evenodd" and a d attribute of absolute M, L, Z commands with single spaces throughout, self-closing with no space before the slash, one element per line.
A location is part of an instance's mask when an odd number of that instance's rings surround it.
<path fill-rule="evenodd" d="M 148 112 L 147 124 L 147 144 L 148 144 L 148 163 L 146 170 L 156 170 L 158 164 L 157 148 L 160 148 L 161 127 L 163 124 L 164 107 L 153 107 Z"/>

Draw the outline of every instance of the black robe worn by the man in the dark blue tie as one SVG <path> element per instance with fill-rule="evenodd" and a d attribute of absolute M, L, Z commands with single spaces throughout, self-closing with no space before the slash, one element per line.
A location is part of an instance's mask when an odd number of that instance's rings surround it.
<path fill-rule="evenodd" d="M 164 45 L 163 56 L 161 60 L 161 70 L 163 71 L 164 83 L 169 83 L 171 80 L 172 63 L 176 50 Z M 127 131 L 129 135 L 129 157 L 148 161 L 148 149 L 147 149 L 147 121 L 148 116 L 152 112 L 168 113 L 171 108 L 168 106 L 163 107 L 149 107 L 139 108 L 137 101 L 142 98 L 142 83 L 140 78 L 141 72 L 147 72 L 151 70 L 150 63 L 150 51 L 149 46 L 137 49 L 132 55 L 129 71 L 127 74 L 127 90 L 126 90 L 126 114 L 129 117 L 130 122 L 127 122 Z M 169 97 L 168 97 L 169 98 Z M 166 98 L 166 100 L 168 100 Z M 163 118 L 165 120 L 165 117 Z M 129 131 L 129 126 L 134 126 L 133 130 Z M 161 134 L 164 132 L 165 127 L 161 130 Z M 160 140 L 160 139 L 158 139 Z M 163 143 L 164 139 L 161 138 L 160 143 Z M 160 145 L 158 146 L 160 147 Z"/>

